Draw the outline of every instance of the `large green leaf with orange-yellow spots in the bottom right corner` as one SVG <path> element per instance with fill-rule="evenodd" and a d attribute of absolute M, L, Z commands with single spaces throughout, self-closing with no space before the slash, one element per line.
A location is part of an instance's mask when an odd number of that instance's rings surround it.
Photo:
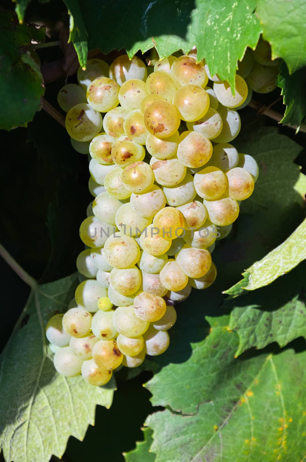
<path fill-rule="evenodd" d="M 146 421 L 155 462 L 303 459 L 305 353 L 234 359 L 237 346 L 236 334 L 213 327 L 188 361 L 148 382 L 153 403 L 171 407 Z"/>

